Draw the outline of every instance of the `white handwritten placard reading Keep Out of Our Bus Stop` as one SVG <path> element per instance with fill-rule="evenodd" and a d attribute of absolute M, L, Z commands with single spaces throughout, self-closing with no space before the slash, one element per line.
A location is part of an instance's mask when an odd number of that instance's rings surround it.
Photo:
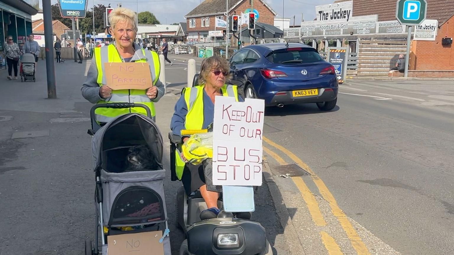
<path fill-rule="evenodd" d="M 213 123 L 213 184 L 262 185 L 265 101 L 216 97 Z"/>

